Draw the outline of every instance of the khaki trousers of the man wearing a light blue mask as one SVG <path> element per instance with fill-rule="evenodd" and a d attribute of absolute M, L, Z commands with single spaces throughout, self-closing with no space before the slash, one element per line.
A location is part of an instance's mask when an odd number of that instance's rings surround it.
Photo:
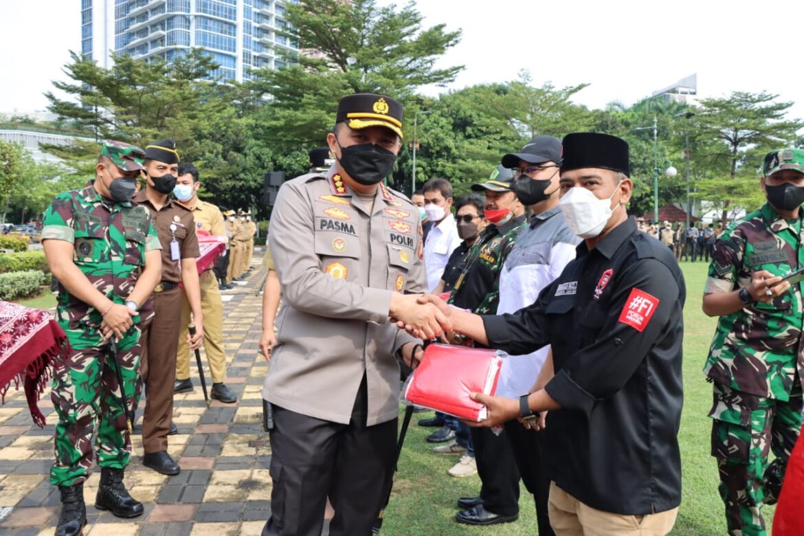
<path fill-rule="evenodd" d="M 211 270 L 199 276 L 201 284 L 201 311 L 203 313 L 203 350 L 207 354 L 212 383 L 226 381 L 226 354 L 224 353 L 224 302 Z M 182 323 L 178 330 L 178 354 L 176 355 L 176 378 L 190 378 L 190 362 L 195 353 L 187 346 L 187 326 L 190 325 L 190 303 L 182 291 Z"/>

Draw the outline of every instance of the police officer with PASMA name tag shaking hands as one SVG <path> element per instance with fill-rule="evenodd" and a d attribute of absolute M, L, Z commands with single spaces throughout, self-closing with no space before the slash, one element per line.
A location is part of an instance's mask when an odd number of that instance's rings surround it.
<path fill-rule="evenodd" d="M 417 309 L 425 291 L 419 213 L 382 184 L 401 147 L 402 106 L 357 94 L 327 135 L 337 162 L 285 182 L 269 247 L 282 289 L 263 397 L 273 407 L 271 518 L 263 534 L 370 534 L 396 451 L 398 359 L 420 341 L 389 317 L 446 320 Z M 404 293 L 409 293 L 404 295 Z"/>

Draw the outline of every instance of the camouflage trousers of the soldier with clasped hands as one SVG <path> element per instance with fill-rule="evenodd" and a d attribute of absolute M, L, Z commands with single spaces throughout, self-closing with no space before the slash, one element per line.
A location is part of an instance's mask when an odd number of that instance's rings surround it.
<path fill-rule="evenodd" d="M 50 473 L 53 485 L 73 485 L 88 478 L 96 427 L 100 467 L 122 469 L 131 457 L 117 362 L 109 353 L 109 345 L 84 330 L 65 332 L 73 351 L 66 361 L 57 360 L 53 370 L 51 399 L 59 415 L 55 425 L 55 464 Z M 117 342 L 125 395 L 133 408 L 142 391 L 140 335 L 140 327 L 134 325 Z"/>

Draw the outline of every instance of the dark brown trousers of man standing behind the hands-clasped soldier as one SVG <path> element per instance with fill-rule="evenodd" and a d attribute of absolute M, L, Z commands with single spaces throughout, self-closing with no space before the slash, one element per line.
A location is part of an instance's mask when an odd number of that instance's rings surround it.
<path fill-rule="evenodd" d="M 173 419 L 173 381 L 176 378 L 176 333 L 181 321 L 183 291 L 154 293 L 154 320 L 142 332 L 142 381 L 146 412 L 142 417 L 142 449 L 146 454 L 167 450 Z"/>

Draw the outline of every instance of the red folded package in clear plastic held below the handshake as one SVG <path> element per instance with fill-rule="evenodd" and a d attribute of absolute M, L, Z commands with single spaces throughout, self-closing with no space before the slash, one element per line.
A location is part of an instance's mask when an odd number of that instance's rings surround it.
<path fill-rule="evenodd" d="M 410 403 L 459 419 L 486 419 L 486 406 L 470 393 L 494 395 L 503 359 L 496 350 L 431 344 L 405 386 Z"/>

